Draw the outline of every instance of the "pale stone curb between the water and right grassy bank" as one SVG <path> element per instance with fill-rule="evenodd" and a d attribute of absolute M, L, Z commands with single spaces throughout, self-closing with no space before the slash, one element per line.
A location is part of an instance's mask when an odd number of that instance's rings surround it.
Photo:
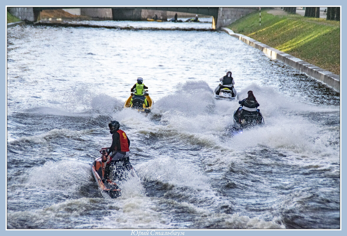
<path fill-rule="evenodd" d="M 243 34 L 236 34 L 229 28 L 221 28 L 221 31 L 228 33 L 229 35 L 242 40 L 244 43 L 252 46 L 253 48 L 263 51 L 264 54 L 268 55 L 273 59 L 283 61 L 285 64 L 305 73 L 308 76 L 322 81 L 328 86 L 332 87 L 336 91 L 340 92 L 340 76 L 333 74 L 328 70 L 324 70 L 318 66 L 312 65 L 300 58 L 293 57 L 285 52 L 269 47 L 268 45 L 258 42 L 250 37 Z"/>

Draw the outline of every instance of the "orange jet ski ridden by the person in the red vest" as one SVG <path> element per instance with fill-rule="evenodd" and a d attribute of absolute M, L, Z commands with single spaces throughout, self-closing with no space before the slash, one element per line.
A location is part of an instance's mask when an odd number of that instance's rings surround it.
<path fill-rule="evenodd" d="M 102 156 L 96 158 L 91 165 L 95 181 L 101 189 L 101 192 L 107 193 L 112 198 L 119 197 L 121 195 L 119 183 L 126 179 L 126 175 L 128 173 L 132 176 L 136 176 L 135 170 L 133 167 L 131 167 L 129 172 L 129 170 L 123 166 L 123 162 L 119 162 L 119 165 L 116 165 L 115 169 L 113 169 L 113 171 L 111 171 L 109 175 L 111 182 L 104 183 L 102 182 L 102 179 L 104 177 L 106 162 L 103 161 L 102 157 L 104 156 L 105 159 L 105 155 L 107 154 L 107 147 L 102 148 L 100 150 L 100 153 L 102 154 Z"/>

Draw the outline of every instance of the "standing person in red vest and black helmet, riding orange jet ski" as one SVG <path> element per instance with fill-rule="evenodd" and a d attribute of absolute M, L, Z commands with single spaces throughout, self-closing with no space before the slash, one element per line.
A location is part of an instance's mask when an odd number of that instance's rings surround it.
<path fill-rule="evenodd" d="M 109 129 L 112 134 L 112 145 L 109 147 L 107 154 L 103 157 L 103 162 L 106 161 L 104 178 L 102 180 L 103 183 L 112 182 L 109 179 L 110 171 L 117 163 L 122 162 L 122 166 L 128 170 L 131 169 L 129 161 L 130 140 L 125 132 L 119 129 L 119 127 L 120 124 L 117 120 L 110 121 Z"/>

